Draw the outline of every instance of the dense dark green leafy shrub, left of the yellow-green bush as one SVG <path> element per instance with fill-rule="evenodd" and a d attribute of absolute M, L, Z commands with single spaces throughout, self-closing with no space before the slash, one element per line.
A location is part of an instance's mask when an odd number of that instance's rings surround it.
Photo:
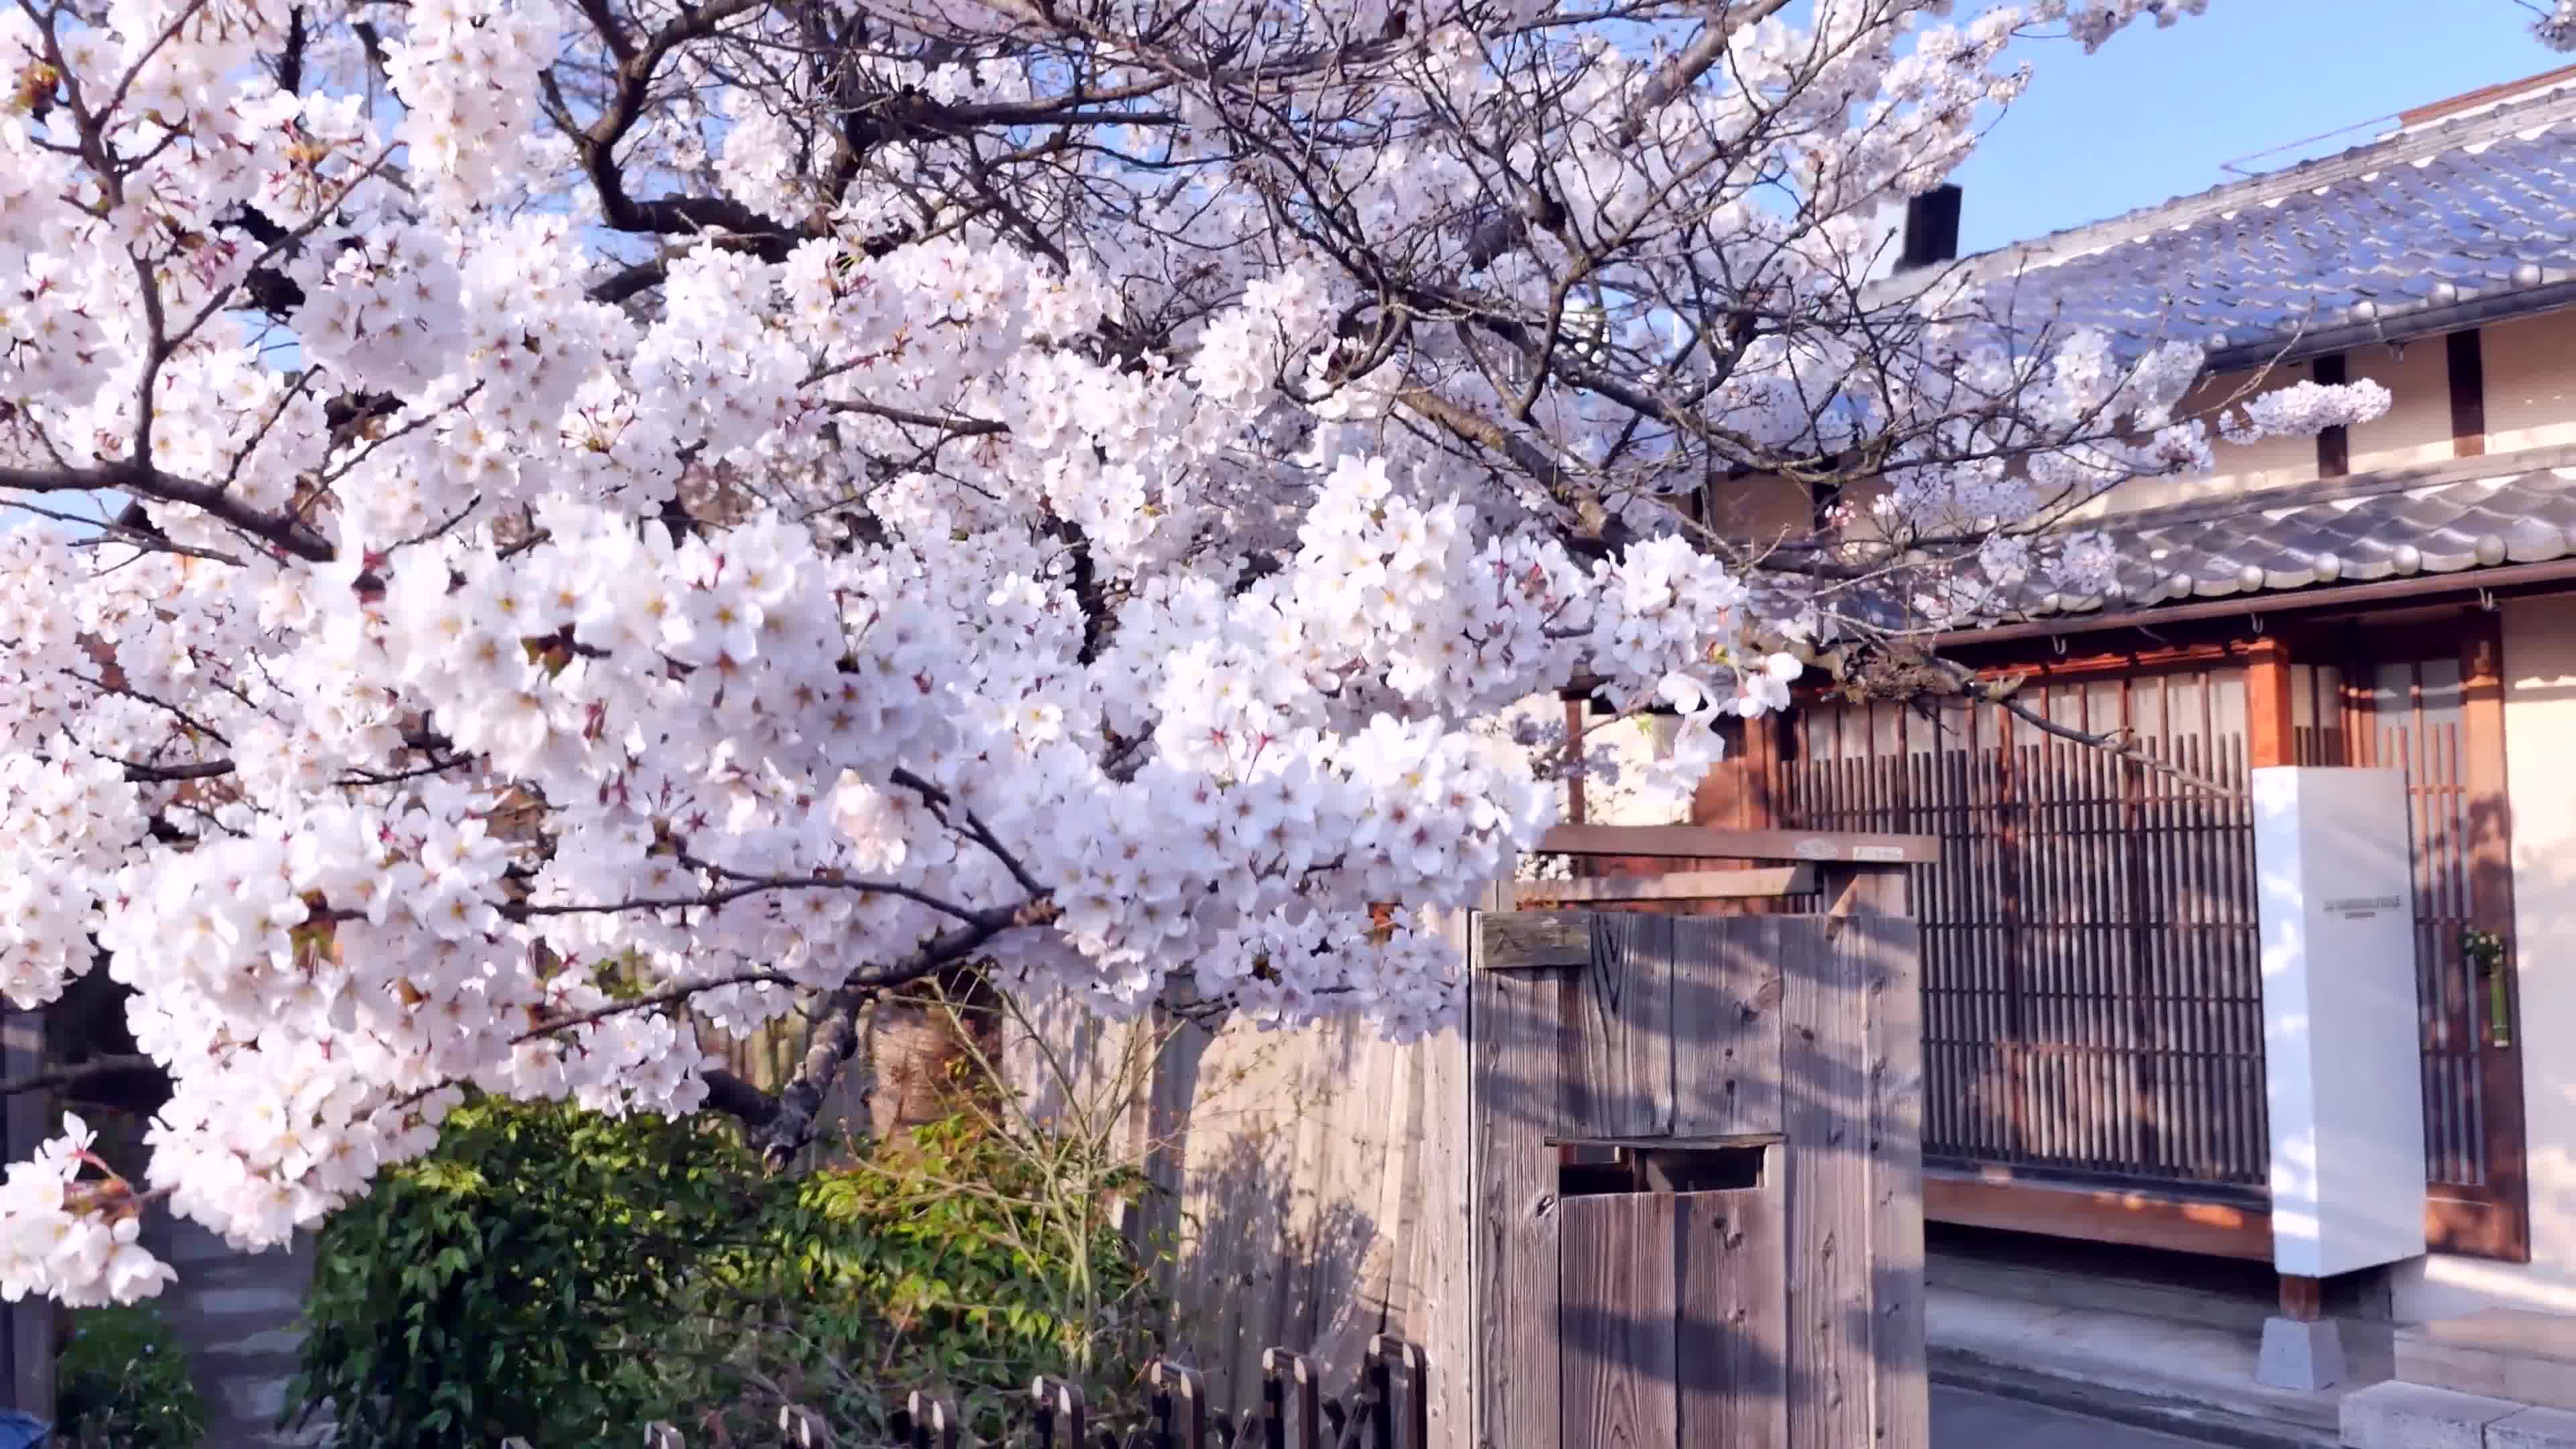
<path fill-rule="evenodd" d="M 636 1354 L 773 1186 L 721 1134 L 482 1098 L 322 1230 L 296 1400 L 348 1449 L 592 1444 L 701 1385 Z"/>

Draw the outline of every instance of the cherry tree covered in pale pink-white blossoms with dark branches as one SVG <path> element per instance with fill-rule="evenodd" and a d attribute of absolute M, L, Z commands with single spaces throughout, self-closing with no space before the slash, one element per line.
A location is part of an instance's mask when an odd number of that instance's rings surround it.
<path fill-rule="evenodd" d="M 469 1085 L 786 1163 L 933 972 L 1440 1029 L 1553 810 L 1507 706 L 1705 768 L 2210 464 L 2192 340 L 1886 276 L 2009 41 L 2197 8 L 18 0 L 0 990 L 113 982 L 167 1096 L 144 1181 L 10 1165 L 0 1289 L 283 1243 Z"/>

